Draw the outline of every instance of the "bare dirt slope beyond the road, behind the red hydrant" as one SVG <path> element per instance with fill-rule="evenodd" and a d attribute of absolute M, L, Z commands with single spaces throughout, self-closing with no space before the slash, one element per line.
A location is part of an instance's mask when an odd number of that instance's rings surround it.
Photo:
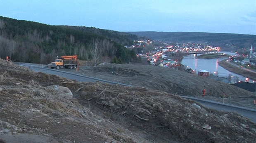
<path fill-rule="evenodd" d="M 107 64 L 96 67 L 80 67 L 78 71 L 60 70 L 221 103 L 223 103 L 223 96 L 225 96 L 225 104 L 256 109 L 254 105 L 255 93 L 171 68 L 151 65 Z M 206 89 L 205 97 L 202 96 L 203 89 Z"/>

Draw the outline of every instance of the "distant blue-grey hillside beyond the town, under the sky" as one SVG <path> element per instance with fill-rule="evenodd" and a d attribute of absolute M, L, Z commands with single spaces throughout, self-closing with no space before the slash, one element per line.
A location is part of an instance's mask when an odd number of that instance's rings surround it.
<path fill-rule="evenodd" d="M 256 35 L 206 33 L 206 32 L 126 32 L 138 37 L 149 37 L 163 42 L 197 42 L 209 43 L 225 48 L 235 46 L 247 48 L 256 46 Z M 231 45 L 230 45 L 231 44 Z"/>

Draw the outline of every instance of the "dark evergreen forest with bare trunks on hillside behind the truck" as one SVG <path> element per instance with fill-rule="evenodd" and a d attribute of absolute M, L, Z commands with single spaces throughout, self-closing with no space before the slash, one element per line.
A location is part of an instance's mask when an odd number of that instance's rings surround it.
<path fill-rule="evenodd" d="M 92 60 L 95 64 L 128 63 L 136 58 L 136 53 L 123 44 L 133 44 L 137 36 L 117 34 L 0 16 L 0 58 L 8 56 L 14 62 L 48 64 L 60 55 L 78 55 L 78 59 Z"/>

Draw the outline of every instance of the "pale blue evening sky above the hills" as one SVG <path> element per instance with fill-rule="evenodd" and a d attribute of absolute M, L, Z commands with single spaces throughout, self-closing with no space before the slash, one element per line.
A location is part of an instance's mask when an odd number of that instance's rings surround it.
<path fill-rule="evenodd" d="M 256 35 L 256 0 L 0 0 L 0 16 L 120 32 Z"/>

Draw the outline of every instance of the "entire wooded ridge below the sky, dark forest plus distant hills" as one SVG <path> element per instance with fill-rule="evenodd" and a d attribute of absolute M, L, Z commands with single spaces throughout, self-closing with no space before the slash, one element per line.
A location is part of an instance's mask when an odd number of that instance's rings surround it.
<path fill-rule="evenodd" d="M 48 64 L 60 55 L 78 55 L 78 59 L 94 63 L 128 63 L 136 59 L 138 51 L 124 46 L 135 45 L 134 40 L 162 42 L 197 42 L 220 46 L 222 49 L 256 46 L 256 35 L 206 32 L 118 32 L 85 26 L 47 25 L 33 21 L 0 16 L 0 58 L 14 62 Z M 153 45 L 146 45 L 151 49 Z"/>

